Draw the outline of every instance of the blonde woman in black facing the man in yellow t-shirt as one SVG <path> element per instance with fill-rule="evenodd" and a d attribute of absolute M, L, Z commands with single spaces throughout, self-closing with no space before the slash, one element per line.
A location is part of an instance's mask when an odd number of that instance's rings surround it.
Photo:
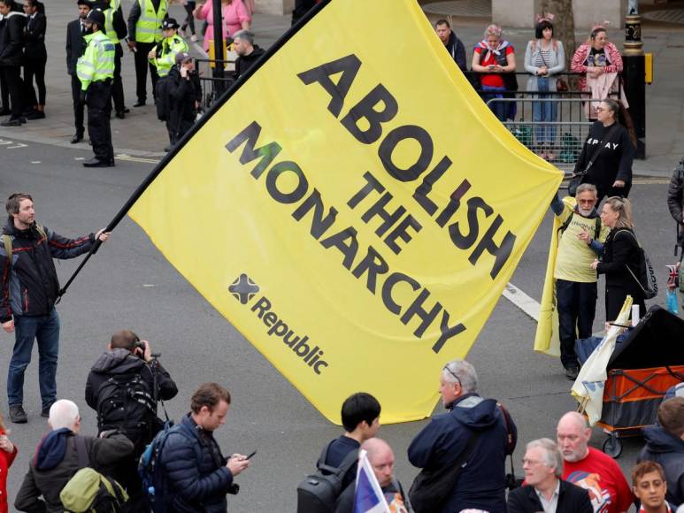
<path fill-rule="evenodd" d="M 640 315 L 646 310 L 639 276 L 639 243 L 634 235 L 632 205 L 629 200 L 612 196 L 603 203 L 603 225 L 611 228 L 603 245 L 603 261 L 595 260 L 591 268 L 605 274 L 605 318 L 618 318 L 626 296 L 631 295 L 633 304 L 639 305 Z"/>

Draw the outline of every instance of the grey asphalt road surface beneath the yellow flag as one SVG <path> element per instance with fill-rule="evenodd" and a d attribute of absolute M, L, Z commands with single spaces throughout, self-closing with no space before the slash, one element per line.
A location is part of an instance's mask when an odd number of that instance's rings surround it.
<path fill-rule="evenodd" d="M 30 192 L 39 221 L 66 236 L 106 226 L 153 166 L 119 158 L 113 169 L 88 170 L 75 160 L 89 157 L 87 151 L 5 142 L 0 142 L 0 198 L 16 191 Z M 506 180 L 504 172 L 502 180 Z M 665 279 L 664 265 L 674 261 L 674 225 L 666 211 L 666 187 L 659 180 L 640 182 L 633 189 L 637 234 L 649 250 L 661 281 Z M 547 215 L 512 279 L 537 301 L 542 295 L 549 238 Z M 62 282 L 77 264 L 73 260 L 58 264 Z M 603 284 L 599 295 L 595 329 L 603 324 Z M 664 292 L 658 302 L 665 302 Z M 312 470 L 320 449 L 341 428 L 321 417 L 175 272 L 130 219 L 121 222 L 111 241 L 84 268 L 58 310 L 62 320 L 58 395 L 81 406 L 83 433 L 96 433 L 95 415 L 83 399 L 88 369 L 104 351 L 111 333 L 129 327 L 162 353 L 163 364 L 178 383 L 180 394 L 166 405 L 172 417 L 179 418 L 188 410 L 189 396 L 205 381 L 219 381 L 233 395 L 227 424 L 216 433 L 219 443 L 226 453 L 249 454 L 258 449 L 258 454 L 251 468 L 237 478 L 242 491 L 229 497 L 229 509 L 295 510 L 298 481 Z M 560 364 L 532 350 L 534 329 L 530 318 L 502 299 L 468 358 L 480 375 L 481 394 L 506 404 L 519 426 L 519 449 L 515 454 L 518 471 L 526 441 L 553 437 L 557 418 L 576 406 Z M 0 408 L 5 414 L 4 372 L 12 344 L 13 336 L 3 333 Z M 35 360 L 29 366 L 25 384 L 29 422 L 8 422 L 11 438 L 20 451 L 9 475 L 11 501 L 27 470 L 28 458 L 46 430 L 40 417 Z M 435 387 L 437 379 L 435 376 Z M 406 486 L 417 471 L 408 463 L 405 449 L 423 425 L 416 422 L 380 429 L 380 437 L 395 448 L 396 475 Z M 592 444 L 600 447 L 603 440 L 603 433 L 596 429 Z M 641 447 L 641 440 L 626 440 L 619 458 L 626 472 Z"/>

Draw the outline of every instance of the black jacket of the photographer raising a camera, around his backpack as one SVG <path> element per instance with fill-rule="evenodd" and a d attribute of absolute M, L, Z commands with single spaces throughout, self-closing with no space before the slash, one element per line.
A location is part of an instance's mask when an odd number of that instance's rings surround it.
<path fill-rule="evenodd" d="M 138 356 L 131 354 L 128 349 L 118 348 L 110 351 L 105 351 L 102 356 L 97 358 L 90 373 L 88 374 L 88 381 L 86 382 L 86 402 L 88 406 L 97 411 L 98 391 L 100 387 L 108 379 L 115 376 L 140 374 L 150 390 L 154 390 L 154 373 L 150 367 L 151 364 L 146 364 L 144 360 Z M 157 397 L 159 400 L 167 401 L 173 399 L 178 394 L 178 388 L 171 379 L 171 376 L 164 367 L 159 364 L 157 370 Z M 157 417 L 150 412 L 149 417 L 145 419 L 150 425 L 150 431 L 147 433 L 126 433 L 127 436 L 135 444 L 135 451 L 140 451 L 145 444 L 150 443 L 154 434 L 157 433 L 156 426 Z M 106 426 L 105 430 L 112 429 L 113 426 Z M 121 426 L 122 427 L 122 426 Z M 134 451 L 134 454 L 135 454 Z"/>

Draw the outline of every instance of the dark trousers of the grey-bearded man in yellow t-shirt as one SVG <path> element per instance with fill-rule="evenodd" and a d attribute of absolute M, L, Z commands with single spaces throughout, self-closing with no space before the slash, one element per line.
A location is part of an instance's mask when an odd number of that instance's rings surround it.
<path fill-rule="evenodd" d="M 556 280 L 560 361 L 564 367 L 577 365 L 575 340 L 591 336 L 596 317 L 598 289 L 594 283 Z"/>

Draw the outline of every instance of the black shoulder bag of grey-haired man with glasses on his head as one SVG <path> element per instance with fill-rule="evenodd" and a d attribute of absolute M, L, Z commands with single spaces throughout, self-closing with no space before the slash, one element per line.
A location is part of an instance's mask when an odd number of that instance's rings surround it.
<path fill-rule="evenodd" d="M 468 439 L 468 445 L 448 467 L 430 471 L 423 469 L 419 472 L 409 490 L 409 500 L 415 513 L 434 513 L 442 510 L 479 438 L 480 432 L 473 431 Z"/>

